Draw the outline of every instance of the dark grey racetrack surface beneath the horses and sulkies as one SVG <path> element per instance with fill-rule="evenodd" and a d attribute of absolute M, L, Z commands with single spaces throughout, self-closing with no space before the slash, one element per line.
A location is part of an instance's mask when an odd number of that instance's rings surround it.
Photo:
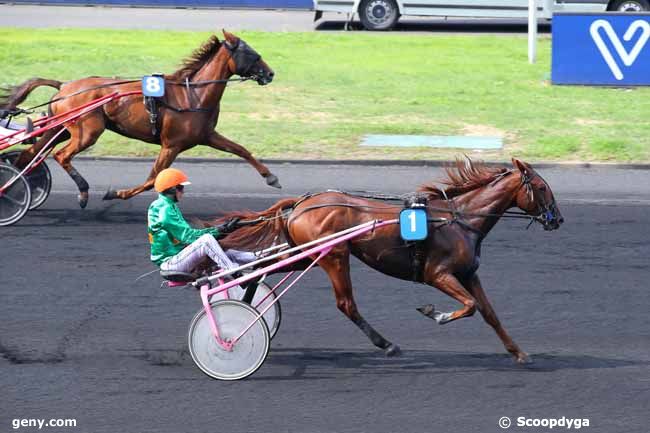
<path fill-rule="evenodd" d="M 557 232 L 502 221 L 483 244 L 487 294 L 534 364 L 514 365 L 479 315 L 438 326 L 415 311 L 456 308 L 431 287 L 355 262 L 368 322 L 399 344 L 385 358 L 335 307 L 314 270 L 282 300 L 262 368 L 219 382 L 194 366 L 186 332 L 198 295 L 160 289 L 145 212 L 153 194 L 103 203 L 109 185 L 146 164 L 79 161 L 93 194 L 76 208 L 53 167 L 41 210 L 0 229 L 0 431 L 13 419 L 74 418 L 52 432 L 498 432 L 512 418 L 589 419 L 587 432 L 648 431 L 650 401 L 650 171 L 542 170 L 566 223 Z M 263 209 L 328 187 L 406 192 L 435 168 L 273 165 L 285 190 L 242 164 L 179 164 L 194 184 L 185 213 Z M 637 185 L 630 187 L 628 184 Z M 552 431 L 564 431 L 556 427 Z M 515 432 L 548 428 L 511 427 Z"/>

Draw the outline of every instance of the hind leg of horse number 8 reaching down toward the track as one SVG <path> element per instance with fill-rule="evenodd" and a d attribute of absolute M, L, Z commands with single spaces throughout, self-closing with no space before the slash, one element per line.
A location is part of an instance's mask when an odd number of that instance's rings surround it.
<path fill-rule="evenodd" d="M 54 154 L 54 159 L 70 175 L 79 188 L 79 206 L 84 209 L 88 204 L 89 185 L 86 179 L 72 166 L 72 158 L 79 152 L 89 148 L 104 132 L 104 118 L 101 114 L 89 114 L 71 125 L 70 142 Z"/>

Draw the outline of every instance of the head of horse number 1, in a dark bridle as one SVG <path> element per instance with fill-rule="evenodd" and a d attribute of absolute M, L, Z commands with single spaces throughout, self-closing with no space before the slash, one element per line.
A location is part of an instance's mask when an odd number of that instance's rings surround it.
<path fill-rule="evenodd" d="M 529 164 L 512 159 L 521 176 L 515 204 L 528 215 L 537 217 L 544 230 L 556 230 L 564 222 L 553 191 L 546 181 Z"/>

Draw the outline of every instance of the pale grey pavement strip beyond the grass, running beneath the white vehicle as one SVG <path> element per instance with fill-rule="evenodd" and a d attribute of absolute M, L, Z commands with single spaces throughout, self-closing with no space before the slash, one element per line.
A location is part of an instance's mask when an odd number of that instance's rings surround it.
<path fill-rule="evenodd" d="M 0 27 L 74 27 L 139 30 L 282 32 L 342 31 L 345 14 L 325 13 L 314 23 L 305 10 L 156 9 L 0 4 Z M 358 17 L 353 29 L 360 29 Z M 550 25 L 540 22 L 540 32 Z M 528 32 L 525 19 L 458 19 L 404 17 L 395 33 L 518 33 Z M 385 34 L 382 32 L 377 35 Z"/>

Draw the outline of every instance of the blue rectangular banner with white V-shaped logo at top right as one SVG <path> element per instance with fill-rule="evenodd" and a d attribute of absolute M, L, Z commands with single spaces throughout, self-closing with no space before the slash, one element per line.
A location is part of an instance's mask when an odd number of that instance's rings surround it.
<path fill-rule="evenodd" d="M 650 14 L 553 15 L 553 84 L 650 85 Z"/>

